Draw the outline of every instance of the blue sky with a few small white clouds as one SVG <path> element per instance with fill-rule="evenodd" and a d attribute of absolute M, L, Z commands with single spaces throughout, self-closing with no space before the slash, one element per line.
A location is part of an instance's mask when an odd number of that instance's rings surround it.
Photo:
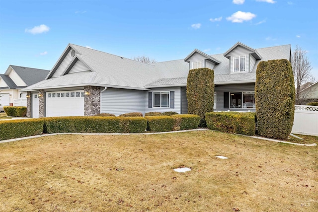
<path fill-rule="evenodd" d="M 0 73 L 51 70 L 68 43 L 133 58 L 183 59 L 291 44 L 318 80 L 317 0 L 0 0 Z"/>

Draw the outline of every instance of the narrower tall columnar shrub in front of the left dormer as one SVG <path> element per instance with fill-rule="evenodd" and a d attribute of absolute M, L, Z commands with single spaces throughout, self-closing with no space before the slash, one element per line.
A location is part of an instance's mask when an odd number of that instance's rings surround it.
<path fill-rule="evenodd" d="M 192 69 L 187 79 L 188 113 L 200 116 L 200 127 L 206 127 L 205 113 L 213 112 L 214 71 Z"/>

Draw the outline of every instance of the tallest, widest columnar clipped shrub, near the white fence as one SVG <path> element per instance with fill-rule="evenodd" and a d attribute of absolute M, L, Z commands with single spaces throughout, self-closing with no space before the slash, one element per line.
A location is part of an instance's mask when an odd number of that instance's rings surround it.
<path fill-rule="evenodd" d="M 255 104 L 258 135 L 286 139 L 292 131 L 295 112 L 294 75 L 288 60 L 258 64 Z"/>

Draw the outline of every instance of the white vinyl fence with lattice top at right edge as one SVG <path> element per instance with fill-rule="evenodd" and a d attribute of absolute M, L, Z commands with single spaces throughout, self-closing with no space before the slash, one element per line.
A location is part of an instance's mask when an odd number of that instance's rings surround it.
<path fill-rule="evenodd" d="M 295 105 L 292 133 L 318 136 L 318 106 Z"/>

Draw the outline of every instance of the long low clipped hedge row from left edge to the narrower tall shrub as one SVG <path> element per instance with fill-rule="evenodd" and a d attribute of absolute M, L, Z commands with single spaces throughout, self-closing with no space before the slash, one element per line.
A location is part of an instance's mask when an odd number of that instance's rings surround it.
<path fill-rule="evenodd" d="M 196 129 L 197 115 L 143 117 L 48 117 L 0 122 L 0 140 L 42 133 L 145 133 Z"/>

